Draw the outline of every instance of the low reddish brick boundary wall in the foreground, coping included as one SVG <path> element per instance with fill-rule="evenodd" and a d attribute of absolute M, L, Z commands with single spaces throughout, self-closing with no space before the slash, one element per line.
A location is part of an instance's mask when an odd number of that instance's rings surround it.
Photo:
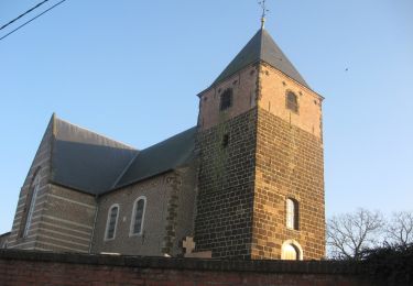
<path fill-rule="evenodd" d="M 2 286 L 381 285 L 361 276 L 361 266 L 337 262 L 229 262 L 0 250 Z"/>

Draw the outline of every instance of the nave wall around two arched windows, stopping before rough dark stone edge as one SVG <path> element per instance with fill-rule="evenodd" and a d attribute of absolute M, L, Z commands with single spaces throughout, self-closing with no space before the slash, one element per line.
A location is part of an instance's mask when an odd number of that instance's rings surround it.
<path fill-rule="evenodd" d="M 167 202 L 171 198 L 170 184 L 173 173 L 149 178 L 134 185 L 110 191 L 98 200 L 99 210 L 95 226 L 93 253 L 110 252 L 131 255 L 162 255 L 165 238 Z M 130 235 L 133 204 L 146 198 L 142 234 Z M 108 211 L 119 205 L 118 223 L 113 240 L 106 240 Z"/>

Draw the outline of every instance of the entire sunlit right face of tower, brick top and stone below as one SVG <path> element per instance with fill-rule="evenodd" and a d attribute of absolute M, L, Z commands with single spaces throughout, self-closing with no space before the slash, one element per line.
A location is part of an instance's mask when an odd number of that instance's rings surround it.
<path fill-rule="evenodd" d="M 259 65 L 253 258 L 281 258 L 293 240 L 304 260 L 325 255 L 323 98 L 281 72 Z M 298 112 L 286 108 L 297 96 Z M 286 199 L 297 202 L 297 230 L 286 228 Z"/>

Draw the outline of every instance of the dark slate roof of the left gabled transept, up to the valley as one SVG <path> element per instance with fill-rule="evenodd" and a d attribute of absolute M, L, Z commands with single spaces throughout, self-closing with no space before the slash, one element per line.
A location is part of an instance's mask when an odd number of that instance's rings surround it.
<path fill-rule="evenodd" d="M 55 118 L 52 182 L 93 195 L 113 186 L 138 150 Z"/>

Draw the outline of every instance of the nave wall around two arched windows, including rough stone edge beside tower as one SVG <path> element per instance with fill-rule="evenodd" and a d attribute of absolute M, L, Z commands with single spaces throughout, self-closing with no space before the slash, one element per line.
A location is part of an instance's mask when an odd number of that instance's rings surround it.
<path fill-rule="evenodd" d="M 195 166 L 186 166 L 100 197 L 93 252 L 182 254 L 182 239 L 193 235 L 195 169 Z M 141 196 L 146 198 L 143 231 L 131 235 L 133 204 Z M 108 211 L 115 204 L 119 205 L 116 237 L 105 240 Z"/>

